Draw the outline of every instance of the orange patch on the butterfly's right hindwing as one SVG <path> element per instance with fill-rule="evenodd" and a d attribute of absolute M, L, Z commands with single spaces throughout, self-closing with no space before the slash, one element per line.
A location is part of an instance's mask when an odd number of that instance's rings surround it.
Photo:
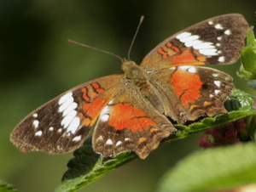
<path fill-rule="evenodd" d="M 189 103 L 195 103 L 195 100 L 201 97 L 200 89 L 203 83 L 200 76 L 196 74 L 176 71 L 172 75 L 170 83 L 185 107 L 188 107 Z"/>

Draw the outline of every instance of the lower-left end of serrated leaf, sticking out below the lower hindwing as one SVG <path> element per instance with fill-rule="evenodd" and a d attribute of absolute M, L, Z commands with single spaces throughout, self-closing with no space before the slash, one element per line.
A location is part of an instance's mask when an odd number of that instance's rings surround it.
<path fill-rule="evenodd" d="M 75 150 L 74 156 L 67 164 L 69 169 L 63 175 L 63 183 L 55 191 L 80 189 L 126 162 L 137 158 L 137 155 L 131 151 L 116 155 L 115 158 L 103 158 L 92 150 L 91 138 L 87 139 L 79 150 Z"/>

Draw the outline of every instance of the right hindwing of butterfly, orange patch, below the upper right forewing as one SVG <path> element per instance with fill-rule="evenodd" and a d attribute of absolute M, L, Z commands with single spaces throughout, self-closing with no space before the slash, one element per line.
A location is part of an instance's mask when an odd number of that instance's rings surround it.
<path fill-rule="evenodd" d="M 166 98 L 166 116 L 181 124 L 200 116 L 226 113 L 224 101 L 235 88 L 231 76 L 202 66 L 165 67 L 150 79 L 163 94 L 161 98 Z"/>

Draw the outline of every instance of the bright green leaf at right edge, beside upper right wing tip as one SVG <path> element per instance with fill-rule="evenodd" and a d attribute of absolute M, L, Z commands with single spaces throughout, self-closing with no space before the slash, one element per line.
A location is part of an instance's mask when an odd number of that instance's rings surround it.
<path fill-rule="evenodd" d="M 242 65 L 237 72 L 238 76 L 245 79 L 256 79 L 256 40 L 253 29 L 247 33 L 247 47 L 241 50 Z"/>

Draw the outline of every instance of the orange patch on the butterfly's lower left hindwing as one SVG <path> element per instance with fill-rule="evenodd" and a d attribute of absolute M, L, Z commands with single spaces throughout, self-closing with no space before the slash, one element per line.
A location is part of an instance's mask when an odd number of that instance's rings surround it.
<path fill-rule="evenodd" d="M 147 130 L 149 126 L 156 126 L 143 110 L 131 104 L 115 104 L 111 106 L 110 114 L 108 124 L 116 130 L 127 128 L 135 133 Z"/>

